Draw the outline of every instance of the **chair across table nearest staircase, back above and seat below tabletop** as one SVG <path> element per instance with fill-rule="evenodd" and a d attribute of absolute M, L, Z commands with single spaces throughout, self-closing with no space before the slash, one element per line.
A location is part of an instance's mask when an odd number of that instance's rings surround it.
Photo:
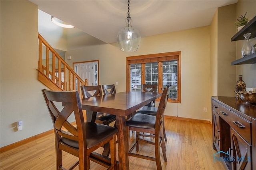
<path fill-rule="evenodd" d="M 101 86 L 81 86 L 83 98 L 102 96 Z M 116 120 L 116 115 L 97 112 L 96 123 L 109 125 Z"/>

